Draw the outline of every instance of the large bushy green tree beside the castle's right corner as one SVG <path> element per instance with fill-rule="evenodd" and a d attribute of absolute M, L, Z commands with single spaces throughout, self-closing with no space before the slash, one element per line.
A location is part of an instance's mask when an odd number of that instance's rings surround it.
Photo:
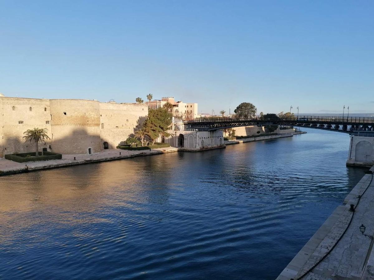
<path fill-rule="evenodd" d="M 172 114 L 164 108 L 150 109 L 148 111 L 147 119 L 143 123 L 143 130 L 152 140 L 152 144 L 156 142 L 156 139 L 161 134 L 165 137 L 170 136 L 166 130 L 170 129 L 171 121 Z"/>

